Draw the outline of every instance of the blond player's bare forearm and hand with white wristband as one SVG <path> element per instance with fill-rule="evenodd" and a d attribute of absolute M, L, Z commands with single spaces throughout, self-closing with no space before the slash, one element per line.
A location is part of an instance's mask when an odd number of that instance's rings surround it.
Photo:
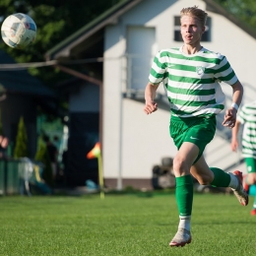
<path fill-rule="evenodd" d="M 230 129 L 235 125 L 236 113 L 243 96 L 243 87 L 239 81 L 237 81 L 231 87 L 233 89 L 232 104 L 228 109 L 226 109 L 223 122 L 223 125 Z"/>

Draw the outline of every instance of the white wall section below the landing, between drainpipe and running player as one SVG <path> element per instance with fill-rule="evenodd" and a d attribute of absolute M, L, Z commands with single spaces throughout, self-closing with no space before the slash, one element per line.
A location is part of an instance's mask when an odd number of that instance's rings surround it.
<path fill-rule="evenodd" d="M 132 99 L 124 100 L 121 170 L 127 178 L 151 177 L 153 165 L 176 153 L 169 137 L 168 111 L 146 115 L 143 107 Z"/>

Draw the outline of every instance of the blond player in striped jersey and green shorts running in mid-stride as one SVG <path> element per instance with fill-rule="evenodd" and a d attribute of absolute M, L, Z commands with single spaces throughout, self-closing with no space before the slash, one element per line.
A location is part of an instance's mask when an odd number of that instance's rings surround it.
<path fill-rule="evenodd" d="M 207 13 L 194 6 L 183 8 L 180 16 L 183 45 L 162 49 L 155 56 L 145 89 L 144 107 L 146 114 L 158 110 L 155 96 L 162 82 L 170 102 L 169 133 L 178 149 L 173 170 L 179 224 L 170 246 L 191 242 L 192 175 L 202 185 L 230 187 L 241 205 L 248 204 L 242 173 L 210 168 L 203 156 L 216 132 L 216 115 L 224 109 L 224 93 L 219 82 L 228 84 L 233 92 L 233 102 L 226 109 L 223 122 L 228 128 L 235 124 L 243 87 L 224 55 L 201 46 Z"/>

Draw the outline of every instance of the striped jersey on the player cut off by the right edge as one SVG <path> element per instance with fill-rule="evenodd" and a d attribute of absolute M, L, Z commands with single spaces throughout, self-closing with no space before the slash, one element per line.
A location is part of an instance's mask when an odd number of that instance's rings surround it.
<path fill-rule="evenodd" d="M 256 100 L 244 104 L 237 115 L 244 124 L 242 132 L 242 157 L 256 159 Z"/>

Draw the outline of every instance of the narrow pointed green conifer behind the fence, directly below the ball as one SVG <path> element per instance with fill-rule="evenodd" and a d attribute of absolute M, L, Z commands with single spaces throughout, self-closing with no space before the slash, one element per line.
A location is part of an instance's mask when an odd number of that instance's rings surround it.
<path fill-rule="evenodd" d="M 14 149 L 14 158 L 28 158 L 28 134 L 24 123 L 23 116 L 20 117 L 18 124 L 18 132 L 16 136 L 16 144 Z"/>

